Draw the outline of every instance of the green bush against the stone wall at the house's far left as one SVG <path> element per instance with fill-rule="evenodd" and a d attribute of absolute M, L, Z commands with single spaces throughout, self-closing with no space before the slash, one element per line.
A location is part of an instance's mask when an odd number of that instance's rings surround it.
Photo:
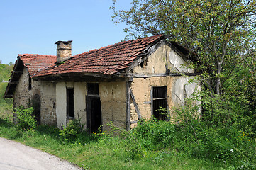
<path fill-rule="evenodd" d="M 23 130 L 35 129 L 36 120 L 35 115 L 33 115 L 33 107 L 24 108 L 19 106 L 15 112 L 18 121 L 18 128 Z"/>

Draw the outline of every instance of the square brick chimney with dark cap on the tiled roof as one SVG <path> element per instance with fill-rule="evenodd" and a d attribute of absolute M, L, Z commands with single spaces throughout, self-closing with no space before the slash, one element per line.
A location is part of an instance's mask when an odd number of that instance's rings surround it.
<path fill-rule="evenodd" d="M 57 64 L 60 64 L 71 57 L 71 43 L 72 40 L 55 42 L 57 45 Z"/>

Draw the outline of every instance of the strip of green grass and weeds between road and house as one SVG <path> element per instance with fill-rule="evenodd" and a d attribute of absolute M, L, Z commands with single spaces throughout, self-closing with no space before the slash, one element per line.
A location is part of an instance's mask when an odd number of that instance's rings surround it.
<path fill-rule="evenodd" d="M 194 131 L 183 125 L 154 120 L 139 123 L 130 132 L 112 128 L 91 135 L 83 131 L 73 140 L 65 140 L 60 130 L 48 125 L 26 131 L 0 119 L 0 137 L 55 154 L 84 169 L 255 168 L 254 145 L 248 141 L 252 139 L 242 132 L 224 135 L 223 130 L 199 130 L 199 124 L 194 127 L 195 138 Z"/>

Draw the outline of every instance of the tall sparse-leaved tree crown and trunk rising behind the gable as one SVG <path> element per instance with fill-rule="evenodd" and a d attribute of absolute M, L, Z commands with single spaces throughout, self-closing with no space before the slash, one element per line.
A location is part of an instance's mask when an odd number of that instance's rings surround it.
<path fill-rule="evenodd" d="M 133 0 L 132 4 L 129 11 L 116 10 L 113 0 L 113 21 L 128 25 L 128 37 L 165 33 L 195 52 L 204 83 L 213 94 L 222 94 L 226 65 L 238 64 L 255 45 L 255 0 Z"/>

